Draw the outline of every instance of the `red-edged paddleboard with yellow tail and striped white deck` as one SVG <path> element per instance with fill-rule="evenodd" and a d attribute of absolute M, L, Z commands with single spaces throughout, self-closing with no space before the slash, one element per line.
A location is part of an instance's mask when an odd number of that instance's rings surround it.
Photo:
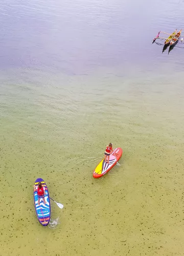
<path fill-rule="evenodd" d="M 100 178 L 104 174 L 106 174 L 121 158 L 123 153 L 123 150 L 121 147 L 117 147 L 109 157 L 109 163 L 105 162 L 105 159 L 103 159 L 95 168 L 93 177 L 94 178 Z"/>

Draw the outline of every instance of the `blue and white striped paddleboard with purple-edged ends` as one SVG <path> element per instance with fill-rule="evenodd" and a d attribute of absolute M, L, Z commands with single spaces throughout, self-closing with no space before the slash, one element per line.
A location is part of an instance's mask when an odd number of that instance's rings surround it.
<path fill-rule="evenodd" d="M 38 205 L 38 195 L 37 195 L 38 182 L 41 182 L 42 186 L 45 188 L 45 196 L 44 196 L 45 203 L 46 203 L 45 205 L 43 203 L 42 198 L 40 198 L 40 205 Z M 51 204 L 49 199 L 48 187 L 43 179 L 38 178 L 35 180 L 33 194 L 34 194 L 35 210 L 36 210 L 36 215 L 38 217 L 38 220 L 41 223 L 41 225 L 47 226 L 51 218 Z"/>

